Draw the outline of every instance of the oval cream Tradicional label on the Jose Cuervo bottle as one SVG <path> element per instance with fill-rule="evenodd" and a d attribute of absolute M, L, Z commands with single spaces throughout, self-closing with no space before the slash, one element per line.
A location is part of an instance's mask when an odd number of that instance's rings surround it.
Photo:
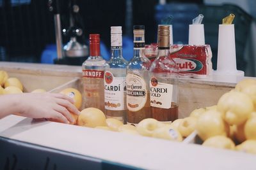
<path fill-rule="evenodd" d="M 129 111 L 139 111 L 147 103 L 147 84 L 138 74 L 128 73 L 126 76 L 127 108 Z"/>

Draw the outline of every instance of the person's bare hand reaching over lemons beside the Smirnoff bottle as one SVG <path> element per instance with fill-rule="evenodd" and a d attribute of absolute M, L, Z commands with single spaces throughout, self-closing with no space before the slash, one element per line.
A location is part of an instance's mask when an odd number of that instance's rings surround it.
<path fill-rule="evenodd" d="M 73 123 L 70 112 L 79 115 L 74 100 L 64 94 L 20 94 L 19 113 L 30 118 L 47 118 L 54 122 Z"/>

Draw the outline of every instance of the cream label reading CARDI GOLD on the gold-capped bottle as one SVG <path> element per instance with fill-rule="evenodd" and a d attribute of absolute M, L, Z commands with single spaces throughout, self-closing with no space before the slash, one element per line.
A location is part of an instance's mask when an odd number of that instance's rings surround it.
<path fill-rule="evenodd" d="M 156 108 L 170 109 L 172 106 L 173 85 L 160 83 L 155 77 L 151 78 L 150 84 L 150 106 Z"/>

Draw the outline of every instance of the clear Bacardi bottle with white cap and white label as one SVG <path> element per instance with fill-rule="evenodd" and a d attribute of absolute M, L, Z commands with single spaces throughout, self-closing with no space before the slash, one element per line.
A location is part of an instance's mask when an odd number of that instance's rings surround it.
<path fill-rule="evenodd" d="M 126 72 L 122 56 L 122 27 L 111 27 L 111 59 L 104 73 L 105 115 L 126 123 Z"/>

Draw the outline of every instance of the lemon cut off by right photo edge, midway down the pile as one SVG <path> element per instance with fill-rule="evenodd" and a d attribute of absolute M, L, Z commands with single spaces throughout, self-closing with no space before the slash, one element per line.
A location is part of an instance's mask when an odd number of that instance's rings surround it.
<path fill-rule="evenodd" d="M 244 125 L 246 139 L 256 139 L 256 117 L 249 118 Z"/>

